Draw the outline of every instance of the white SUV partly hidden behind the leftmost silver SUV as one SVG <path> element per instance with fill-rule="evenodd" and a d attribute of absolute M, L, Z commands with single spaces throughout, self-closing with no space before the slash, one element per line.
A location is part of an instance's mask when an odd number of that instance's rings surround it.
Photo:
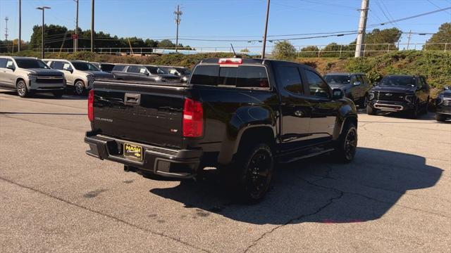
<path fill-rule="evenodd" d="M 79 96 L 92 88 L 94 78 L 113 78 L 113 74 L 102 72 L 96 66 L 85 60 L 44 59 L 54 70 L 61 70 L 67 80 L 67 85 Z"/>

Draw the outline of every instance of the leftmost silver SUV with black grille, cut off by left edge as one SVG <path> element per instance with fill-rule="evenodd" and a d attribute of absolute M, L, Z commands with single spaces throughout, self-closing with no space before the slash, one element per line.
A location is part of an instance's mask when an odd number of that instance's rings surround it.
<path fill-rule="evenodd" d="M 23 98 L 37 92 L 51 92 L 61 97 L 66 79 L 62 72 L 51 70 L 37 58 L 0 56 L 0 85 L 16 90 Z"/>

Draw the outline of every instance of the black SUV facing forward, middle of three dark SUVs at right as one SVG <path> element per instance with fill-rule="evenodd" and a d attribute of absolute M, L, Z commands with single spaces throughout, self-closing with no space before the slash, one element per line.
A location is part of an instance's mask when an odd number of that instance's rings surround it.
<path fill-rule="evenodd" d="M 429 86 L 422 76 L 388 75 L 381 79 L 369 91 L 369 103 L 366 112 L 376 115 L 377 112 L 409 113 L 415 119 L 419 112 L 428 111 Z"/>

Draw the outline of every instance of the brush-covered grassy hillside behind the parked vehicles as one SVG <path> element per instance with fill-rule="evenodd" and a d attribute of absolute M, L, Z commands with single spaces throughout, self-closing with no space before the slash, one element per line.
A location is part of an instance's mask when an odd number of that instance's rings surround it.
<path fill-rule="evenodd" d="M 39 57 L 39 53 L 24 51 L 21 56 Z M 142 63 L 154 65 L 181 65 L 193 67 L 202 58 L 230 57 L 230 53 L 199 53 L 196 55 L 168 54 L 163 56 L 109 56 L 90 52 L 73 54 L 49 53 L 46 58 L 66 58 L 109 63 Z M 397 51 L 367 58 L 297 58 L 316 68 L 321 74 L 328 72 L 365 72 L 371 82 L 376 82 L 386 74 L 422 74 L 435 95 L 443 86 L 451 86 L 451 52 L 439 51 Z"/>

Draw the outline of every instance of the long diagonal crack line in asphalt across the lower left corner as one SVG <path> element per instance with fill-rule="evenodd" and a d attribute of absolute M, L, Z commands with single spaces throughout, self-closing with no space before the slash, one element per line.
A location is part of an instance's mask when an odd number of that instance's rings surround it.
<path fill-rule="evenodd" d="M 113 215 L 110 215 L 110 214 L 104 214 L 104 213 L 99 212 L 99 211 L 96 211 L 96 210 L 94 210 L 94 209 L 89 209 L 89 208 L 84 207 L 84 206 L 82 206 L 82 205 L 78 205 L 78 204 L 76 204 L 76 203 L 74 203 L 74 202 L 70 202 L 69 200 L 64 200 L 64 199 L 61 198 L 61 197 L 56 197 L 56 196 L 51 195 L 51 194 L 49 194 L 49 193 L 45 193 L 45 192 L 43 192 L 42 190 L 37 190 L 37 189 L 35 189 L 35 188 L 31 188 L 30 186 L 25 186 L 25 185 L 23 185 L 23 184 L 21 184 L 21 183 L 16 183 L 16 182 L 14 182 L 14 181 L 11 181 L 10 179 L 5 179 L 5 178 L 2 177 L 2 176 L 0 176 L 0 179 L 3 180 L 3 181 L 5 181 L 5 182 L 7 182 L 7 183 L 11 183 L 11 184 L 13 184 L 13 185 L 15 185 L 15 186 L 19 186 L 19 187 L 22 187 L 22 188 L 25 188 L 25 189 L 28 189 L 28 190 L 32 190 L 32 191 L 35 192 L 35 193 L 40 193 L 40 194 L 45 195 L 45 196 L 47 196 L 47 197 L 51 197 L 51 198 L 53 198 L 53 199 L 55 199 L 55 200 L 59 200 L 59 201 L 61 201 L 61 202 L 65 202 L 65 203 L 68 204 L 68 205 L 72 205 L 72 206 L 74 206 L 74 207 L 79 207 L 79 208 L 81 208 L 81 209 L 87 210 L 88 212 L 92 212 L 92 213 L 94 213 L 94 214 L 99 214 L 99 215 L 104 216 L 104 217 L 106 217 L 106 218 L 113 219 L 114 221 L 117 221 L 117 222 L 120 222 L 120 223 L 124 223 L 124 224 L 126 224 L 126 225 L 128 225 L 128 226 L 132 226 L 133 228 L 137 228 L 137 229 L 139 229 L 139 230 L 141 230 L 141 231 L 145 231 L 145 232 L 148 232 L 148 233 L 152 233 L 152 234 L 154 234 L 154 235 L 160 235 L 160 236 L 163 237 L 163 238 L 168 238 L 168 239 L 173 240 L 173 241 L 175 241 L 175 242 L 180 242 L 181 244 L 186 245 L 186 246 L 188 246 L 188 247 L 192 247 L 193 249 L 199 249 L 199 250 L 202 250 L 203 252 L 209 252 L 209 253 L 211 252 L 211 251 L 209 251 L 209 250 L 207 250 L 207 249 L 202 249 L 201 247 L 197 247 L 197 246 L 195 246 L 195 245 L 191 245 L 190 243 L 184 242 L 183 240 L 180 240 L 180 239 L 178 239 L 178 238 L 173 238 L 173 237 L 171 237 L 170 235 L 165 235 L 164 233 L 159 233 L 159 232 L 156 232 L 156 231 L 149 230 L 148 228 L 143 228 L 143 227 L 141 227 L 141 226 L 137 226 L 137 225 L 135 225 L 135 224 L 133 224 L 133 223 L 130 223 L 130 222 L 128 222 L 128 221 L 124 221 L 123 219 L 119 219 L 119 218 L 116 217 L 116 216 L 113 216 Z"/>

